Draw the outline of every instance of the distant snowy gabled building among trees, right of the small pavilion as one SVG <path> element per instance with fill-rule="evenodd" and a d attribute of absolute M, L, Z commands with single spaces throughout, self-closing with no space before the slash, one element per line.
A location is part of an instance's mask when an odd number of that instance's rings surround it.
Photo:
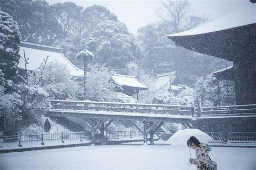
<path fill-rule="evenodd" d="M 176 71 L 157 74 L 156 79 L 154 79 L 154 87 L 159 89 L 161 86 L 169 87 L 169 90 L 174 94 L 177 94 L 182 89 L 194 90 L 181 82 Z"/>

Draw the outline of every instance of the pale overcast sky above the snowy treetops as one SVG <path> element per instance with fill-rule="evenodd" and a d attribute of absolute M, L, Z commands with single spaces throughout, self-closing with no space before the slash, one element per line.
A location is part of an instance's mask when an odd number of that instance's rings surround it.
<path fill-rule="evenodd" d="M 113 12 L 120 22 L 123 22 L 128 30 L 136 34 L 140 27 L 159 20 L 155 15 L 155 9 L 160 8 L 159 0 L 46 0 L 49 4 L 58 2 L 73 2 L 86 8 L 93 4 L 106 6 Z M 198 14 L 207 13 L 211 19 L 221 17 L 235 11 L 242 6 L 255 5 L 249 0 L 188 0 L 193 12 Z"/>

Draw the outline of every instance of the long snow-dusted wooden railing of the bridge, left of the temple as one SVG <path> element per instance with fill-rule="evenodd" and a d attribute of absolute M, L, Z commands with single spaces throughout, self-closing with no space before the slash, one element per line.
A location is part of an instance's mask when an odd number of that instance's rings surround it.
<path fill-rule="evenodd" d="M 165 105 L 165 104 L 139 104 L 139 103 L 111 103 L 111 102 L 87 102 L 87 101 L 65 101 L 48 100 L 52 109 L 64 110 L 95 110 L 116 112 L 139 112 L 146 114 L 170 114 L 190 115 L 189 105 Z"/>

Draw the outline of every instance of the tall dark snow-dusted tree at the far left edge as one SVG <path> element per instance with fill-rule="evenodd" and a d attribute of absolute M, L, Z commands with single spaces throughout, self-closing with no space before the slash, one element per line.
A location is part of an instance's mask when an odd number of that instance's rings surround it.
<path fill-rule="evenodd" d="M 16 134 L 15 122 L 19 115 L 19 95 L 14 93 L 17 65 L 20 55 L 18 44 L 21 40 L 17 23 L 0 10 L 0 111 L 4 115 L 4 134 Z M 3 97 L 3 98 L 2 98 Z"/>

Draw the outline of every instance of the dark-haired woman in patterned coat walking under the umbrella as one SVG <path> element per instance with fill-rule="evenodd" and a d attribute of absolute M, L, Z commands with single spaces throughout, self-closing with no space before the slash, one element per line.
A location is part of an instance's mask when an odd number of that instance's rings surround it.
<path fill-rule="evenodd" d="M 211 147 L 207 144 L 200 143 L 199 140 L 192 136 L 187 140 L 187 146 L 196 150 L 197 159 L 190 158 L 190 164 L 197 165 L 198 170 L 207 170 L 210 168 L 211 159 L 208 152 L 211 151 Z M 217 165 L 214 169 L 217 169 Z"/>

